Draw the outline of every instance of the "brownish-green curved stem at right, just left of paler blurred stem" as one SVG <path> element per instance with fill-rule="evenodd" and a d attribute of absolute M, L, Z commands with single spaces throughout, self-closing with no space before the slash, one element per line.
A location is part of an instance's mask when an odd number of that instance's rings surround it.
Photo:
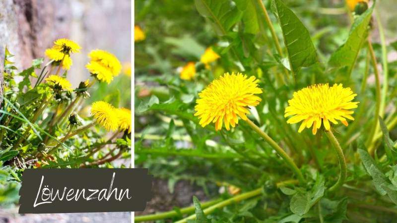
<path fill-rule="evenodd" d="M 366 146 L 368 148 L 368 153 L 370 155 L 374 154 L 374 147 L 373 147 L 373 140 L 375 136 L 375 132 L 378 129 L 378 117 L 380 113 L 380 108 L 381 108 L 381 83 L 380 83 L 380 77 L 379 77 L 379 71 L 377 67 L 377 62 L 376 62 L 376 56 L 374 53 L 374 49 L 372 48 L 371 40 L 368 39 L 368 50 L 371 55 L 371 60 L 372 60 L 372 66 L 374 68 L 374 73 L 375 73 L 375 93 L 376 93 L 376 108 L 375 108 L 375 115 L 374 115 L 374 123 L 372 125 L 370 134 L 368 135 L 368 140 L 366 143 Z"/>

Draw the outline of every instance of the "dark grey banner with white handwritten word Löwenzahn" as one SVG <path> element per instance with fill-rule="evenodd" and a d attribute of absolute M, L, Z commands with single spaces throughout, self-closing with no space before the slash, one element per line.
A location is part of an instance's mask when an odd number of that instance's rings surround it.
<path fill-rule="evenodd" d="M 143 211 L 152 180 L 146 168 L 25 169 L 19 213 Z"/>

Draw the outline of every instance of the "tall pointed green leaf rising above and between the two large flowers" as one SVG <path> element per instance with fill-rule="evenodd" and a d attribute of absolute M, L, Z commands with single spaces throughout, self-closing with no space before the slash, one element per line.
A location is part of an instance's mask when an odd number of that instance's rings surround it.
<path fill-rule="evenodd" d="M 292 71 L 296 74 L 300 68 L 317 63 L 317 53 L 309 31 L 299 18 L 281 0 L 272 0 L 271 10 L 280 24 Z"/>

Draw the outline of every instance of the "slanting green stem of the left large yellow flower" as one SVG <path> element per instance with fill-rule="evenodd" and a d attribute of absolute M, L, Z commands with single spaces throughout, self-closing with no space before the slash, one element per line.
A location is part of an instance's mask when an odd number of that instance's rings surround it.
<path fill-rule="evenodd" d="M 278 146 L 278 144 L 274 142 L 274 140 L 271 139 L 264 131 L 262 131 L 254 122 L 252 122 L 248 118 L 245 121 L 248 123 L 248 125 L 250 125 L 252 129 L 254 129 L 255 132 L 257 132 L 263 139 L 265 139 L 268 144 L 270 144 L 270 146 L 278 153 L 278 155 L 280 155 L 280 157 L 287 163 L 292 171 L 295 172 L 296 176 L 298 177 L 299 183 L 304 185 L 306 181 L 302 175 L 301 170 L 296 166 L 296 164 L 288 156 L 288 154 L 285 153 L 285 151 L 280 146 Z"/>

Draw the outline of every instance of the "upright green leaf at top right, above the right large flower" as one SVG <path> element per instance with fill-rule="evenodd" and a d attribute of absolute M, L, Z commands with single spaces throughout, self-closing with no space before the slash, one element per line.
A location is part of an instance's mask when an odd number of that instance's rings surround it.
<path fill-rule="evenodd" d="M 375 3 L 354 21 L 346 42 L 331 55 L 328 62 L 330 67 L 340 68 L 347 66 L 349 70 L 348 73 L 351 73 L 360 48 L 368 35 L 368 24 L 371 20 L 374 6 Z"/>

